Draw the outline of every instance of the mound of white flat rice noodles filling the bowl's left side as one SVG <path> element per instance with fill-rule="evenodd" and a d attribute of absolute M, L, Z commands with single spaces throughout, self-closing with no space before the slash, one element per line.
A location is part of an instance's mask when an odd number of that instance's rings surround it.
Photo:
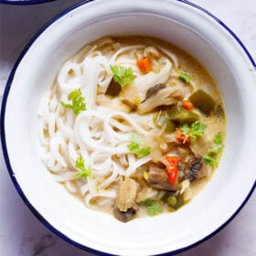
<path fill-rule="evenodd" d="M 105 93 L 112 80 L 111 65 L 133 69 L 135 80 L 123 91 L 128 99 L 168 80 L 173 65 L 178 65 L 176 55 L 156 43 L 129 46 L 113 42 L 110 37 L 102 38 L 67 60 L 38 110 L 42 159 L 48 170 L 70 193 L 80 194 L 86 206 L 101 210 L 114 205 L 118 181 L 152 159 L 151 155 L 137 159 L 127 148 L 132 133 L 142 138 L 152 136 L 152 115 L 114 111 L 97 104 L 97 95 Z M 134 58 L 146 53 L 152 54 L 160 69 L 144 75 Z M 60 104 L 69 101 L 69 92 L 75 89 L 81 90 L 87 105 L 78 116 Z M 91 166 L 92 178 L 75 177 L 79 155 L 86 167 Z"/>

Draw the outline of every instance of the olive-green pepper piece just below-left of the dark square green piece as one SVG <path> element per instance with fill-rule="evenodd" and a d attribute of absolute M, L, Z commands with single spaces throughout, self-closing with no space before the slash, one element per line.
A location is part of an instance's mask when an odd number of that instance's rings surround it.
<path fill-rule="evenodd" d="M 167 111 L 167 115 L 170 121 L 175 123 L 193 123 L 199 119 L 199 115 L 195 112 L 187 111 L 179 105 L 174 106 Z"/>

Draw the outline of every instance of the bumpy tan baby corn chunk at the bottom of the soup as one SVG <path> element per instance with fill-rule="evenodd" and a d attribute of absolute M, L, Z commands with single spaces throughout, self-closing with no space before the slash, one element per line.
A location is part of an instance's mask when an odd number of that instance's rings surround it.
<path fill-rule="evenodd" d="M 123 212 L 132 208 L 137 196 L 138 183 L 126 177 L 117 190 L 116 207 Z"/>

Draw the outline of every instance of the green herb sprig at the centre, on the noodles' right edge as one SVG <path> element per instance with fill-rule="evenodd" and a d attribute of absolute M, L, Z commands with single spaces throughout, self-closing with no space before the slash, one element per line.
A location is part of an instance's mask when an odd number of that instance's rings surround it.
<path fill-rule="evenodd" d="M 127 148 L 130 150 L 131 153 L 137 155 L 138 158 L 149 155 L 151 147 L 143 147 L 143 139 L 138 134 L 133 133 L 130 140 L 131 142 L 130 144 L 127 144 Z"/>

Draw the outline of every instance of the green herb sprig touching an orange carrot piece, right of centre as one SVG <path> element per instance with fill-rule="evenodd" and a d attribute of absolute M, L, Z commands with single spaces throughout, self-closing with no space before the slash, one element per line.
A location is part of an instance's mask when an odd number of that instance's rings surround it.
<path fill-rule="evenodd" d="M 206 132 L 207 124 L 199 123 L 198 121 L 191 124 L 189 127 L 187 123 L 184 123 L 180 126 L 180 130 L 185 135 L 184 141 L 187 140 L 188 137 L 192 139 L 197 139 L 197 137 L 201 137 Z"/>

